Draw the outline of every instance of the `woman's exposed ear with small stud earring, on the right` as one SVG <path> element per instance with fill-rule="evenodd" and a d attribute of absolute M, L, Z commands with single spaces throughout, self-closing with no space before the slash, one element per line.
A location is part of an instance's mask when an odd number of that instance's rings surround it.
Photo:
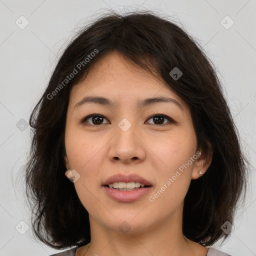
<path fill-rule="evenodd" d="M 192 169 L 191 179 L 197 179 L 198 177 L 202 176 L 206 172 L 207 168 L 211 163 L 213 154 L 212 146 L 208 141 L 206 141 L 206 144 L 209 152 L 206 155 L 206 153 L 203 152 L 202 150 L 198 150 L 200 154 L 197 154 L 197 158 Z M 202 174 L 199 174 L 199 171 L 201 171 Z"/>

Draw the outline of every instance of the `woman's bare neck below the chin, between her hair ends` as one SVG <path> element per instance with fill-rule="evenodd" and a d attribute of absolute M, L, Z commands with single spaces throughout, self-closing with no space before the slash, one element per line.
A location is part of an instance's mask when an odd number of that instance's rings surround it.
<path fill-rule="evenodd" d="M 175 215 L 171 218 L 166 216 L 145 228 L 138 228 L 139 231 L 130 229 L 127 233 L 109 229 L 89 215 L 91 242 L 89 246 L 81 248 L 83 254 L 77 253 L 76 256 L 205 256 L 207 248 L 183 236 L 180 212 Z"/>

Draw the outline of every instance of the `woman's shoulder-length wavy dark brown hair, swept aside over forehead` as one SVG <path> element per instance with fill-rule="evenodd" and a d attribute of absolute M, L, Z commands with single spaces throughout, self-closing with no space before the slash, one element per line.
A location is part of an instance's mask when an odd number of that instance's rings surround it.
<path fill-rule="evenodd" d="M 83 27 L 59 58 L 29 120 L 33 137 L 25 179 L 34 234 L 53 248 L 90 242 L 88 212 L 64 175 L 65 119 L 72 86 L 113 50 L 156 73 L 189 104 L 197 147 L 209 155 L 208 141 L 213 156 L 206 173 L 191 180 L 184 200 L 183 234 L 204 246 L 226 238 L 220 227 L 227 220 L 233 223 L 246 187 L 247 160 L 238 132 L 214 65 L 200 45 L 177 24 L 151 11 L 104 14 Z M 78 68 L 78 63 L 83 64 Z M 176 80 L 169 74 L 174 67 L 183 73 Z M 65 80 L 74 68 L 78 72 Z"/>

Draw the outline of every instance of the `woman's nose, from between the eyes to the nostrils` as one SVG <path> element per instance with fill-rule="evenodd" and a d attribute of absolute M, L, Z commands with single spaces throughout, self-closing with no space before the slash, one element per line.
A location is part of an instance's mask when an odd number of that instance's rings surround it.
<path fill-rule="evenodd" d="M 141 162 L 146 156 L 146 146 L 142 130 L 138 125 L 131 124 L 127 119 L 118 123 L 115 136 L 111 139 L 108 157 L 111 161 L 121 161 L 125 164 Z"/>

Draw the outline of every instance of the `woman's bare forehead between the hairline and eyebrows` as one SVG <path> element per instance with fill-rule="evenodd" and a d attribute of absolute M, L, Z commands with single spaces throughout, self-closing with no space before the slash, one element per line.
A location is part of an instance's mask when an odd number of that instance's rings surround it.
<path fill-rule="evenodd" d="M 177 94 L 159 77 L 135 65 L 118 51 L 113 51 L 89 69 L 86 76 L 72 87 L 70 104 L 75 105 L 84 96 L 104 96 L 121 104 L 151 97 L 171 97 L 184 108 L 188 107 Z"/>

